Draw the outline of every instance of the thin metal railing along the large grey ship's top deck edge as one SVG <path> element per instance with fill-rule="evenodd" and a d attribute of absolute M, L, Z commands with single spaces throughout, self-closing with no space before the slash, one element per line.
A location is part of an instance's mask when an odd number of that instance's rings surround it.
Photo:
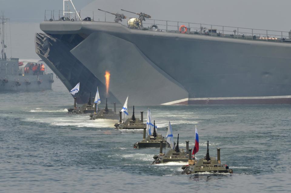
<path fill-rule="evenodd" d="M 81 21 L 76 14 L 75 10 L 65 10 L 65 17 L 73 21 Z M 114 22 L 114 15 L 106 14 L 106 12 L 100 11 L 78 11 L 82 19 L 90 17 L 92 22 Z M 82 13 L 82 16 L 81 16 Z M 97 14 L 96 14 L 97 13 Z M 57 21 L 63 17 L 63 10 L 45 10 L 45 21 Z M 96 19 L 98 18 L 98 19 Z M 128 17 L 128 19 L 131 19 Z M 127 19 L 120 22 L 125 27 L 127 25 Z M 159 31 L 180 33 L 179 28 L 181 25 L 187 27 L 187 34 L 202 35 L 202 36 L 214 36 L 221 38 L 232 38 L 232 39 L 245 39 L 245 40 L 259 40 L 267 42 L 282 42 L 291 43 L 291 31 L 277 31 L 277 30 L 266 30 L 266 29 L 253 29 L 243 27 L 233 27 L 226 25 L 212 25 L 204 23 L 193 23 L 193 22 L 179 22 L 170 20 L 158 20 L 158 19 L 146 19 L 142 22 L 143 29 L 149 29 L 152 25 L 157 25 Z"/>

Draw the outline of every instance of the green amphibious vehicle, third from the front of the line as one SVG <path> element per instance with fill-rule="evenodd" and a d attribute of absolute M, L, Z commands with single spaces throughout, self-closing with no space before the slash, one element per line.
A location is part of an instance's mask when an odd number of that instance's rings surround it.
<path fill-rule="evenodd" d="M 152 135 L 146 137 L 146 128 L 143 129 L 143 139 L 142 141 L 136 142 L 133 145 L 133 148 L 159 148 L 160 141 L 162 141 L 162 148 L 170 148 L 170 145 L 167 143 L 165 137 L 162 134 L 156 133 L 156 123 L 154 121 L 154 131 Z"/>

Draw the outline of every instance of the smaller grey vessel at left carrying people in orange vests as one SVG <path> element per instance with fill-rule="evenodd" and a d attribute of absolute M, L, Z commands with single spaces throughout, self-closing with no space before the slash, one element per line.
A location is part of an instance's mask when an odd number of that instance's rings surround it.
<path fill-rule="evenodd" d="M 53 73 L 45 73 L 42 61 L 19 60 L 6 56 L 6 23 L 8 18 L 0 16 L 1 59 L 0 59 L 0 90 L 50 90 L 52 89 Z"/>

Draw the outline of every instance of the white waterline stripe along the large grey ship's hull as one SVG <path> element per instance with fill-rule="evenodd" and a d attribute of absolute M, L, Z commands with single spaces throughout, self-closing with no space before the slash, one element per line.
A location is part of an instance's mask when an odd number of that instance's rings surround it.
<path fill-rule="evenodd" d="M 286 99 L 291 96 L 242 96 L 242 97 L 212 97 L 212 98 L 185 98 L 163 103 L 162 105 L 178 104 L 190 100 L 253 100 L 253 99 Z"/>

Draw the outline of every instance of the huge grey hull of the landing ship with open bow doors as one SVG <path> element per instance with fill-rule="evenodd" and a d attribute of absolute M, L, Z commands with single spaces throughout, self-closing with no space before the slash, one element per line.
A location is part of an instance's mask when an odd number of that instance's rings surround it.
<path fill-rule="evenodd" d="M 108 70 L 109 97 L 120 103 L 127 95 L 137 105 L 291 103 L 290 43 L 143 31 L 111 22 L 40 27 L 46 34 L 36 34 L 36 53 L 68 90 L 80 81 L 87 93 L 97 86 L 105 93 Z M 74 73 L 74 66 L 81 70 Z M 79 100 L 84 103 L 87 95 Z"/>

